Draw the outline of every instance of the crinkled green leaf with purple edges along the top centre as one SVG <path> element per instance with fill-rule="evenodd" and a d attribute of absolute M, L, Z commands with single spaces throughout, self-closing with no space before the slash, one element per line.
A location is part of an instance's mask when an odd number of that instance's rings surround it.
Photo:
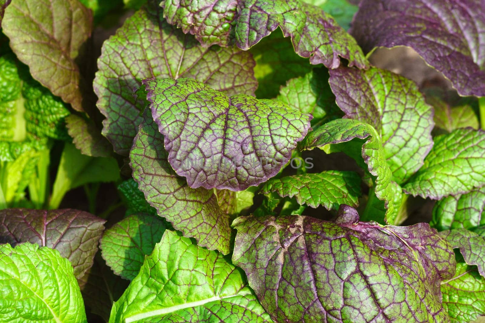
<path fill-rule="evenodd" d="M 185 33 L 192 33 L 204 46 L 227 46 L 235 38 L 244 50 L 256 45 L 280 27 L 291 36 L 295 52 L 311 64 L 328 68 L 340 65 L 367 67 L 356 41 L 323 10 L 299 0 L 163 0 L 164 17 Z"/>

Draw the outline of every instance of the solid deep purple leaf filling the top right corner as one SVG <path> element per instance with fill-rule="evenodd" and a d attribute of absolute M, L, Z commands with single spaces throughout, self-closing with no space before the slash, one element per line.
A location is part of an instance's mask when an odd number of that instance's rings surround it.
<path fill-rule="evenodd" d="M 479 0 L 363 0 L 351 33 L 367 52 L 412 47 L 460 95 L 484 97 L 484 16 Z"/>

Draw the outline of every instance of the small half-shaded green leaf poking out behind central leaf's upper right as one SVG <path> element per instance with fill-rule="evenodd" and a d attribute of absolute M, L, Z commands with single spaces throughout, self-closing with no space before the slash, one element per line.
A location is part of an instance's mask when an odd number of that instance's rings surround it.
<path fill-rule="evenodd" d="M 312 126 L 343 115 L 335 103 L 335 96 L 328 85 L 328 71 L 324 68 L 315 68 L 305 76 L 286 82 L 276 99 L 290 108 L 311 113 Z"/>

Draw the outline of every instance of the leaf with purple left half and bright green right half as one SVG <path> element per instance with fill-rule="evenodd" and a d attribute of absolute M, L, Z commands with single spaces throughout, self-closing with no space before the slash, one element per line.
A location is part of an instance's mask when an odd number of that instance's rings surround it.
<path fill-rule="evenodd" d="M 340 109 L 377 130 L 392 179 L 403 183 L 421 167 L 433 146 L 432 107 L 416 83 L 387 70 L 339 67 L 329 72 Z"/>

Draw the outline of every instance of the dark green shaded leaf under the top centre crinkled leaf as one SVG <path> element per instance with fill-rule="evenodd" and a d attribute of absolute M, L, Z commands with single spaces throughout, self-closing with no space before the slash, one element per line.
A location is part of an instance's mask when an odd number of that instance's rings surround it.
<path fill-rule="evenodd" d="M 261 39 L 249 52 L 256 61 L 254 76 L 258 80 L 255 92 L 258 98 L 276 97 L 281 85 L 291 78 L 304 76 L 313 67 L 295 53 L 291 40 L 284 38 L 280 31 Z"/>

